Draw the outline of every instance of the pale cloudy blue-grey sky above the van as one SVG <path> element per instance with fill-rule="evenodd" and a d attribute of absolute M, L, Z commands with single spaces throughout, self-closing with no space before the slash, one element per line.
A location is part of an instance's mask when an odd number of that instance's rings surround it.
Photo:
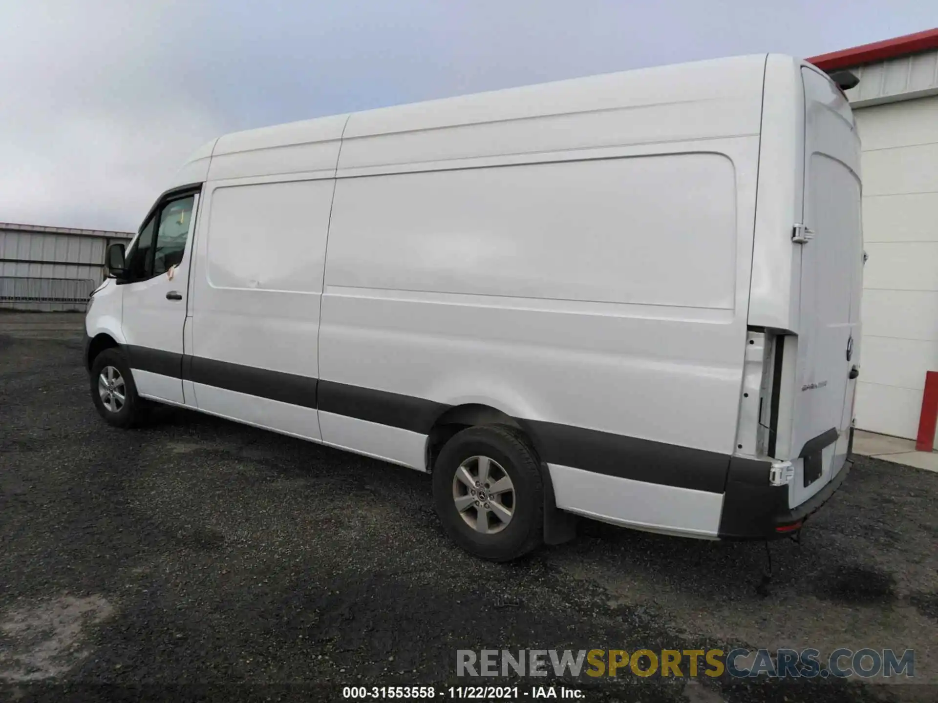
<path fill-rule="evenodd" d="M 239 129 L 934 26 L 925 0 L 4 0 L 0 221 L 135 231 Z"/>

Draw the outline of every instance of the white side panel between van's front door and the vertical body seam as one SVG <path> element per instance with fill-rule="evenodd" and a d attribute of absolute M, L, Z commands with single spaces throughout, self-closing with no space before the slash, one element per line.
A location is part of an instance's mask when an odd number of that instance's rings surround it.
<path fill-rule="evenodd" d="M 316 337 L 335 181 L 204 187 L 183 375 L 200 410 L 319 439 Z"/>

